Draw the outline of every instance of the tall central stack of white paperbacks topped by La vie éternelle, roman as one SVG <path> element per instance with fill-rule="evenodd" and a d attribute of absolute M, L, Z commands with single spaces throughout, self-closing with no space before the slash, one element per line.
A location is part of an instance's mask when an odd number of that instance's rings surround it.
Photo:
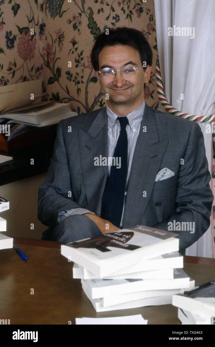
<path fill-rule="evenodd" d="M 136 226 L 61 245 L 73 278 L 97 312 L 172 303 L 195 281 L 183 271 L 177 234 Z"/>

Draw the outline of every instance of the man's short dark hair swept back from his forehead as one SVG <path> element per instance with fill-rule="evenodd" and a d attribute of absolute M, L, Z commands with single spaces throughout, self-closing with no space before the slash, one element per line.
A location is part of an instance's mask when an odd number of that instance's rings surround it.
<path fill-rule="evenodd" d="M 146 66 L 152 65 L 152 50 L 143 33 L 133 28 L 117 27 L 110 28 L 109 35 L 102 32 L 94 42 L 91 53 L 91 62 L 94 70 L 99 70 L 99 53 L 102 48 L 118 44 L 133 47 L 139 51 L 141 61 L 146 61 Z M 146 68 L 143 69 L 144 71 L 146 70 Z"/>

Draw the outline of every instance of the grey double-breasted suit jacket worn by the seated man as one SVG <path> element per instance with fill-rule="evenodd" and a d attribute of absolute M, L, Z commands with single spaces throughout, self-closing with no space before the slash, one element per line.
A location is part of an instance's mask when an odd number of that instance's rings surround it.
<path fill-rule="evenodd" d="M 46 182 L 39 187 L 38 218 L 44 225 L 57 225 L 59 212 L 78 207 L 100 216 L 107 166 L 94 166 L 94 157 L 108 156 L 107 131 L 105 107 L 59 122 Z M 175 176 L 155 182 L 158 171 L 165 167 Z M 168 230 L 170 221 L 195 222 L 194 234 L 178 232 L 180 250 L 184 251 L 210 225 L 213 194 L 209 181 L 199 125 L 146 104 L 127 187 L 123 228 L 145 225 Z"/>

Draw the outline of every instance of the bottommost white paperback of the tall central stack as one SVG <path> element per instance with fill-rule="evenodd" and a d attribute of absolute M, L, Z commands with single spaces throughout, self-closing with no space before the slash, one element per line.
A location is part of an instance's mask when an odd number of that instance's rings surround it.
<path fill-rule="evenodd" d="M 139 299 L 134 300 L 131 302 L 126 302 L 123 304 L 113 305 L 104 307 L 101 305 L 98 299 L 93 299 L 90 295 L 90 292 L 88 291 L 88 288 L 82 285 L 83 291 L 88 297 L 88 299 L 91 301 L 94 309 L 96 312 L 104 312 L 104 311 L 114 311 L 114 310 L 125 310 L 127 308 L 137 308 L 137 307 L 144 307 L 144 306 L 154 306 L 154 305 L 167 305 L 171 304 L 172 302 L 172 295 L 165 295 L 165 296 L 156 296 L 152 298 L 145 298 L 145 299 Z"/>

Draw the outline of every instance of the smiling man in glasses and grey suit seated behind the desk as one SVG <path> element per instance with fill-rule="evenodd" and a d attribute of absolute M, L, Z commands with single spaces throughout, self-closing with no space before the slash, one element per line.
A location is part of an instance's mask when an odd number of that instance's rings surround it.
<path fill-rule="evenodd" d="M 145 103 L 152 51 L 140 31 L 101 33 L 91 60 L 107 105 L 59 122 L 39 187 L 38 218 L 49 227 L 42 239 L 73 242 L 145 225 L 175 231 L 184 253 L 210 225 L 201 129 Z"/>

